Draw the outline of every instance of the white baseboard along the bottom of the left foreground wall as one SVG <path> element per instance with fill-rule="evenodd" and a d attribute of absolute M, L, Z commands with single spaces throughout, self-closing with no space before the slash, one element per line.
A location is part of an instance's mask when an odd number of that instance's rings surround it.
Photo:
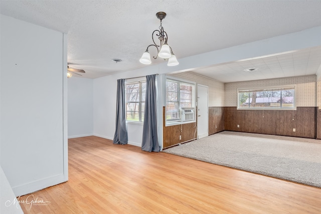
<path fill-rule="evenodd" d="M 67 180 L 64 180 L 64 174 L 58 174 L 52 177 L 47 177 L 44 179 L 36 180 L 30 183 L 25 183 L 23 185 L 14 186 L 12 190 L 14 191 L 15 195 L 18 197 L 20 195 L 29 194 L 49 186 L 54 186 L 59 183 L 63 183 Z"/>

